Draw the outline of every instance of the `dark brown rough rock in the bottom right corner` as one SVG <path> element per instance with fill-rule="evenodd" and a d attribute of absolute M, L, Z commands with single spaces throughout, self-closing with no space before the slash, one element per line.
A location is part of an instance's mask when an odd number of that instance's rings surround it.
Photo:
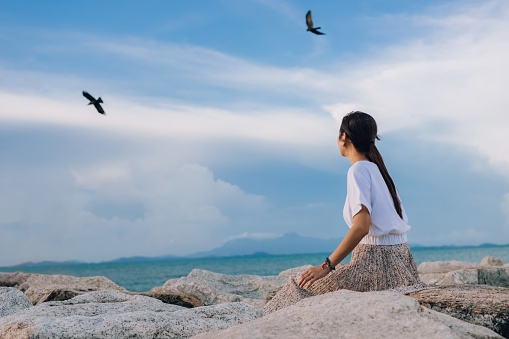
<path fill-rule="evenodd" d="M 487 285 L 440 286 L 409 293 L 422 306 L 509 337 L 509 288 Z"/>

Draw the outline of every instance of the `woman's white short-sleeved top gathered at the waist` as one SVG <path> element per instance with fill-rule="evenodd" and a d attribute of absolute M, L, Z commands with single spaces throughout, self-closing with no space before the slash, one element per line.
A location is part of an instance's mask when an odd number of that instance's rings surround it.
<path fill-rule="evenodd" d="M 353 226 L 353 217 L 361 210 L 361 204 L 370 214 L 369 234 L 361 240 L 361 244 L 396 245 L 407 241 L 406 232 L 411 227 L 399 193 L 396 190 L 403 219 L 396 212 L 389 188 L 374 162 L 362 160 L 353 164 L 348 170 L 346 186 L 343 217 L 348 227 Z"/>

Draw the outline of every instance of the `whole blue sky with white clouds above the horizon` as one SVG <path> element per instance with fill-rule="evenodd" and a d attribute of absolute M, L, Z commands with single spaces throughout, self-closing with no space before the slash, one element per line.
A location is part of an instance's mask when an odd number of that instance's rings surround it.
<path fill-rule="evenodd" d="M 410 243 L 509 243 L 507 60 L 505 0 L 3 1 L 0 266 L 343 237 L 353 110 Z"/>

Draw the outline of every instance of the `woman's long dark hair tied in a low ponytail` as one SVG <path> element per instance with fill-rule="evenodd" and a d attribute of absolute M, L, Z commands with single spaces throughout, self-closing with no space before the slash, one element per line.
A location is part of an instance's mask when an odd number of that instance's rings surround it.
<path fill-rule="evenodd" d="M 396 185 L 392 181 L 389 171 L 384 164 L 384 159 L 378 148 L 375 146 L 375 139 L 380 140 L 377 135 L 376 121 L 373 117 L 364 112 L 350 112 L 343 117 L 341 121 L 341 127 L 339 128 L 339 137 L 346 134 L 346 137 L 350 139 L 357 152 L 362 153 L 368 158 L 369 161 L 374 162 L 382 177 L 385 180 L 385 184 L 389 188 L 392 200 L 394 202 L 394 208 L 401 219 L 403 219 L 403 212 L 401 211 L 401 202 L 398 199 L 396 193 Z"/>

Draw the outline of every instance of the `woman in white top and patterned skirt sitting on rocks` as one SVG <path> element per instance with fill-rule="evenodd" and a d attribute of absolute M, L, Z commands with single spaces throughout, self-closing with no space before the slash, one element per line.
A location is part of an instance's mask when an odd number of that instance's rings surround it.
<path fill-rule="evenodd" d="M 369 114 L 351 112 L 343 118 L 338 146 L 352 163 L 343 209 L 350 230 L 322 265 L 291 277 L 265 305 L 265 314 L 339 289 L 410 292 L 427 287 L 419 280 L 407 245 L 408 218 L 375 139 L 380 140 Z M 350 262 L 340 264 L 350 252 Z"/>

